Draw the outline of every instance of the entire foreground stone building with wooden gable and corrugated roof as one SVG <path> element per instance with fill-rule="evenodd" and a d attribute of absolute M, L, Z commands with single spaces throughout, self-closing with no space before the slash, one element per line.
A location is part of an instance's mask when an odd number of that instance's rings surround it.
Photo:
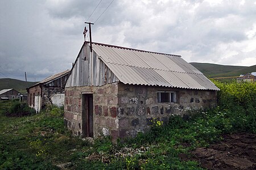
<path fill-rule="evenodd" d="M 88 42 L 65 86 L 64 123 L 74 135 L 134 137 L 156 118 L 217 103 L 209 79 L 181 56 Z"/>

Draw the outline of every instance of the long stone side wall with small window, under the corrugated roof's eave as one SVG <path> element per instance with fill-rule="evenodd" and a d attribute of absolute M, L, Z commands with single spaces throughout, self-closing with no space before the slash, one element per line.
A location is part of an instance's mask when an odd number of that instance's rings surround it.
<path fill-rule="evenodd" d="M 159 91 L 176 91 L 176 103 L 158 103 Z M 119 137 L 135 137 L 150 128 L 152 118 L 164 123 L 172 114 L 183 116 L 193 108 L 217 103 L 217 92 L 118 84 Z"/>

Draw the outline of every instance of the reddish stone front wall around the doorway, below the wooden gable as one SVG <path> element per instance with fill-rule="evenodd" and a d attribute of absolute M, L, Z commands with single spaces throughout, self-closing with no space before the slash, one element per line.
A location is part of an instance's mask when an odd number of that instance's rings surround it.
<path fill-rule="evenodd" d="M 93 94 L 93 136 L 118 136 L 117 83 L 65 88 L 64 122 L 74 135 L 82 133 L 82 94 Z"/>

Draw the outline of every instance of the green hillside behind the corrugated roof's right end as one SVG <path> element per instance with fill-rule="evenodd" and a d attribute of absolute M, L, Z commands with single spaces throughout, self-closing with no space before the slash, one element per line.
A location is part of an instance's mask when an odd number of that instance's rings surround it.
<path fill-rule="evenodd" d="M 239 76 L 241 74 L 256 72 L 256 65 L 246 67 L 246 66 L 226 66 L 226 65 L 216 65 L 212 63 L 198 63 L 191 62 L 191 65 L 196 67 L 205 76 L 209 78 L 213 77 L 224 77 L 224 76 Z"/>

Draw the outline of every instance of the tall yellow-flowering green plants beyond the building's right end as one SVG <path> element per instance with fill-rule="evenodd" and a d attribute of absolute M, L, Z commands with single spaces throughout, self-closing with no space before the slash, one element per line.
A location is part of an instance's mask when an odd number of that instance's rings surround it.
<path fill-rule="evenodd" d="M 222 132 L 251 131 L 255 133 L 256 82 L 234 81 L 228 84 L 214 80 L 213 83 L 220 88 L 217 93 L 220 107 L 218 109 L 226 113 L 225 117 L 216 119 L 218 126 L 224 129 Z"/>

